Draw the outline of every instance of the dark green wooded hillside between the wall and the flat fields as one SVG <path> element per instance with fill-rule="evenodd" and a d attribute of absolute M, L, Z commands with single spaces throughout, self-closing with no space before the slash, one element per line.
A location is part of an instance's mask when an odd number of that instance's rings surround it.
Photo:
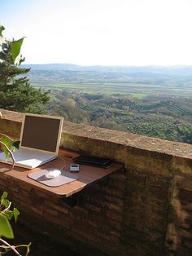
<path fill-rule="evenodd" d="M 53 91 L 50 112 L 72 122 L 192 143 L 191 99 Z"/>

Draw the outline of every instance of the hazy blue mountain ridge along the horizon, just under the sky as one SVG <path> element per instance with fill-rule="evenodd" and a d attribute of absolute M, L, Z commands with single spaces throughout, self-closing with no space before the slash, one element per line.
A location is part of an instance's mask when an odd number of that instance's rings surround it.
<path fill-rule="evenodd" d="M 192 66 L 81 66 L 76 64 L 23 64 L 24 68 L 46 71 L 125 73 L 130 77 L 192 77 Z"/>

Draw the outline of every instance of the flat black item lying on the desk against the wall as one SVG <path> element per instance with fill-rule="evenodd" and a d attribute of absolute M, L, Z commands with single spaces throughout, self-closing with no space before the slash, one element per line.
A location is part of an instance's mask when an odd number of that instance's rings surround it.
<path fill-rule="evenodd" d="M 83 164 L 88 166 L 97 166 L 101 168 L 108 168 L 113 163 L 113 161 L 111 161 L 111 159 L 109 158 L 89 157 L 85 155 L 75 157 L 73 158 L 73 160 L 78 164 Z"/>

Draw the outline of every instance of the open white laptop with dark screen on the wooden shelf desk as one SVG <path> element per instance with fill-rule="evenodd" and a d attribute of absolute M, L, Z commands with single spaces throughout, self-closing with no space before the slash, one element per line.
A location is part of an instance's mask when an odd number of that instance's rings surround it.
<path fill-rule="evenodd" d="M 62 127 L 63 117 L 24 114 L 20 149 L 14 152 L 15 166 L 33 169 L 55 159 Z M 0 161 L 12 164 L 11 157 L 5 161 L 4 152 L 0 152 Z"/>

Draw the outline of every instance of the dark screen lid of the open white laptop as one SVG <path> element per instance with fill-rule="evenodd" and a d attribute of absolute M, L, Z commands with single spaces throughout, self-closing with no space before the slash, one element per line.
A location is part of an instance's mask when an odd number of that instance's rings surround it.
<path fill-rule="evenodd" d="M 62 118 L 25 115 L 21 146 L 56 152 Z"/>

